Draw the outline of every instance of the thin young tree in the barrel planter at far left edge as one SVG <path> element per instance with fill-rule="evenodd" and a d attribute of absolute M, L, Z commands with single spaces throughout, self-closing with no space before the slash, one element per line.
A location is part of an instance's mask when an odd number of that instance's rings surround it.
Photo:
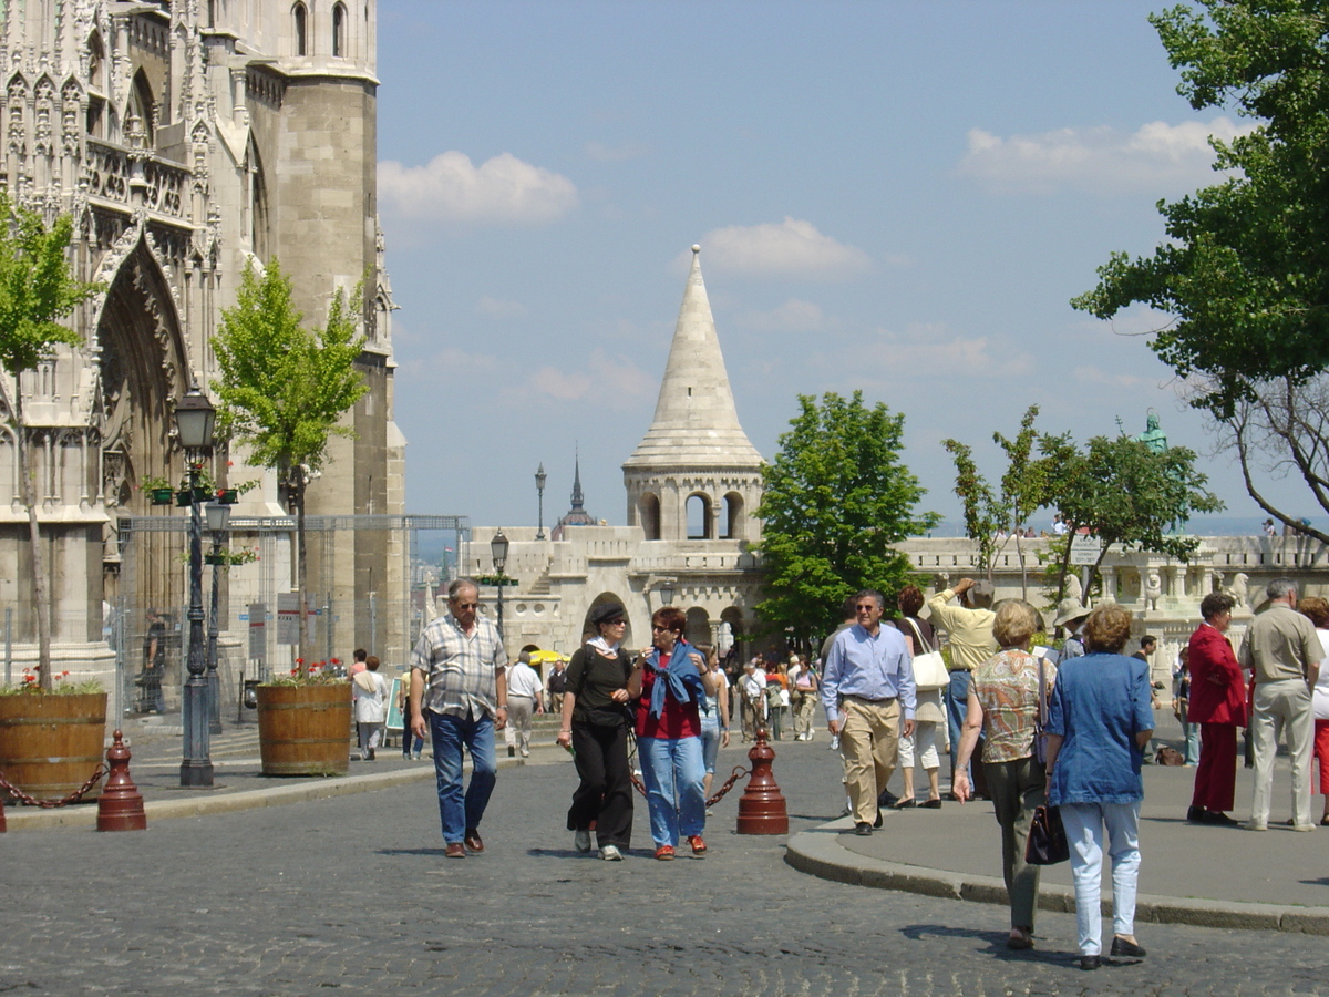
<path fill-rule="evenodd" d="M 82 336 L 58 323 L 101 284 L 76 280 L 66 253 L 73 219 L 60 215 L 47 226 L 36 211 L 16 207 L 0 193 L 0 366 L 13 378 L 5 424 L 19 448 L 20 497 L 28 510 L 32 548 L 33 615 L 37 618 L 37 666 L 43 689 L 52 689 L 51 615 L 45 558 L 37 526 L 28 421 L 20 375 L 54 356 L 56 346 L 78 346 Z"/>

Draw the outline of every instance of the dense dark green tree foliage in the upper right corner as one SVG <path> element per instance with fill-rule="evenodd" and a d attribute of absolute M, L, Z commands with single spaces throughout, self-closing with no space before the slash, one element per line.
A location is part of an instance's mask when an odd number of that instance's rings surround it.
<path fill-rule="evenodd" d="M 1225 179 L 1159 202 L 1170 242 L 1114 253 L 1071 303 L 1104 319 L 1134 303 L 1175 315 L 1151 346 L 1203 375 L 1193 403 L 1227 419 L 1252 378 L 1329 366 L 1329 0 L 1200 0 L 1150 20 L 1192 108 L 1256 124 L 1212 142 Z"/>

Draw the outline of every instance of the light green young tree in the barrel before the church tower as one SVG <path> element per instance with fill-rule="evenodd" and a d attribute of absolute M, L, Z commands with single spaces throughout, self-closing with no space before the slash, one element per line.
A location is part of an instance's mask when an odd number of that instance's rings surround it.
<path fill-rule="evenodd" d="M 363 286 L 363 284 L 361 284 Z M 235 306 L 222 310 L 213 351 L 222 376 L 213 382 L 223 437 L 250 445 L 250 460 L 276 471 L 295 512 L 295 588 L 300 604 L 300 673 L 311 661 L 306 589 L 304 489 L 323 467 L 332 436 L 355 436 L 342 416 L 368 391 L 355 370 L 364 346 L 356 335 L 361 286 L 347 300 L 332 295 L 322 330 L 302 326 L 291 280 L 274 258 L 262 278 L 246 267 Z"/>

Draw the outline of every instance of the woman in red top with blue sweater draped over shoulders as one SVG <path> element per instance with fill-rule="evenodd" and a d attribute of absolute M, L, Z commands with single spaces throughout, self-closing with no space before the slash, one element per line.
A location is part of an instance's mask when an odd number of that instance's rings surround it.
<path fill-rule="evenodd" d="M 687 641 L 687 618 L 674 606 L 651 617 L 653 646 L 633 663 L 627 694 L 637 698 L 637 754 L 646 783 L 657 859 L 672 859 L 679 841 L 706 855 L 706 763 L 700 703 L 714 694 L 706 658 Z"/>

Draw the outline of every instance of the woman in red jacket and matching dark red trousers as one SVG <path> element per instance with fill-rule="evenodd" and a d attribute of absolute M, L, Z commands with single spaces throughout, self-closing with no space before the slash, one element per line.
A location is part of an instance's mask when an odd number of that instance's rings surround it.
<path fill-rule="evenodd" d="M 1187 719 L 1200 724 L 1200 764 L 1185 819 L 1192 824 L 1228 824 L 1237 786 L 1237 727 L 1247 726 L 1245 677 L 1224 631 L 1233 600 L 1211 592 L 1200 602 L 1204 622 L 1191 634 L 1191 707 Z"/>

